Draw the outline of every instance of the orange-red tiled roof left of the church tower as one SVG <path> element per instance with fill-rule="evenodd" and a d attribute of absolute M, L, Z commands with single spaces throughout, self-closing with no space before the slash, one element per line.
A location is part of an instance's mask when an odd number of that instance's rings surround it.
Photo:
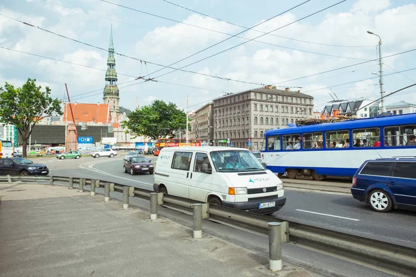
<path fill-rule="evenodd" d="M 73 118 L 75 123 L 103 123 L 111 122 L 110 113 L 108 112 L 108 104 L 83 104 L 71 103 Z M 68 109 L 68 111 L 65 111 Z M 65 115 L 68 121 L 72 121 L 71 108 L 69 103 L 64 105 L 64 120 Z"/>

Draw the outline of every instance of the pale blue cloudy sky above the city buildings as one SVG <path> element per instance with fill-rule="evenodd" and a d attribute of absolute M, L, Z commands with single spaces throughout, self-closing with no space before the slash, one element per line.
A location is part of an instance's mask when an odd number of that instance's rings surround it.
<path fill-rule="evenodd" d="M 62 99 L 67 83 L 71 100 L 103 102 L 112 24 L 115 51 L 128 56 L 116 55 L 123 107 L 157 98 L 183 108 L 189 96 L 189 109 L 198 109 L 223 93 L 276 84 L 310 94 L 315 110 L 322 110 L 332 100 L 329 93 L 348 100 L 379 97 L 379 38 L 367 30 L 383 39 L 383 57 L 416 48 L 415 0 L 348 0 L 311 17 L 340 0 L 311 0 L 297 8 L 306 0 L 107 1 L 0 1 L 0 85 L 35 78 Z M 169 73 L 169 65 L 181 71 Z M 349 67 L 331 71 L 343 66 Z M 385 91 L 416 83 L 415 67 L 416 51 L 386 57 Z M 158 82 L 135 80 L 139 76 Z M 416 102 L 416 86 L 385 101 L 399 100 Z"/>

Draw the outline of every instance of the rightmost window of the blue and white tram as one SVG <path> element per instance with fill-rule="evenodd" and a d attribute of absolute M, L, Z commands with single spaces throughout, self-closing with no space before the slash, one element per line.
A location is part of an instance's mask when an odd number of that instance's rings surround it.
<path fill-rule="evenodd" d="M 416 125 L 390 126 L 384 128 L 385 146 L 416 146 Z"/>

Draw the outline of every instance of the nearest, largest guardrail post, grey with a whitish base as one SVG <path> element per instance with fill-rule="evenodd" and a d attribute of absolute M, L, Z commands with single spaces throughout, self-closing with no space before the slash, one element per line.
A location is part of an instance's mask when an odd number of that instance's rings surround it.
<path fill-rule="evenodd" d="M 269 268 L 281 271 L 281 226 L 280 222 L 268 223 L 269 234 Z"/>

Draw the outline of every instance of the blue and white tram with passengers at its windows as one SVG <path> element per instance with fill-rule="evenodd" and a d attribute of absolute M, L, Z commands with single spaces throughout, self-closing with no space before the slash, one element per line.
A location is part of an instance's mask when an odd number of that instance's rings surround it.
<path fill-rule="evenodd" d="M 272 129 L 264 136 L 261 159 L 278 175 L 352 177 L 367 159 L 416 157 L 416 114 Z"/>

